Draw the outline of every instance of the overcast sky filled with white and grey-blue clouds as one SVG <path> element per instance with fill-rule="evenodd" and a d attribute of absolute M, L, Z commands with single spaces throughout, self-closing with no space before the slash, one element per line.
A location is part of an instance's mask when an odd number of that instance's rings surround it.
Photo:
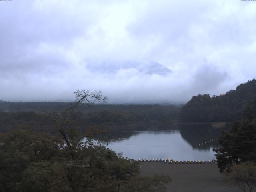
<path fill-rule="evenodd" d="M 86 89 L 109 103 L 184 103 L 255 78 L 255 62 L 256 1 L 0 1 L 0 100 Z"/>

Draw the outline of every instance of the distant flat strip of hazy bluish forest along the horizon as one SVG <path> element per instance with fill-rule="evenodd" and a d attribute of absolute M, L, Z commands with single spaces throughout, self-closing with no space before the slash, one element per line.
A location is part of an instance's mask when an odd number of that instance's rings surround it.
<path fill-rule="evenodd" d="M 63 111 L 70 108 L 73 102 L 7 102 L 0 100 L 0 112 L 34 111 L 43 113 L 45 111 Z M 133 113 L 146 114 L 149 119 L 158 118 L 177 119 L 183 105 L 174 104 L 91 104 L 89 106 L 78 106 L 78 110 L 84 114 L 90 112 L 101 112 L 103 110 L 129 111 Z"/>

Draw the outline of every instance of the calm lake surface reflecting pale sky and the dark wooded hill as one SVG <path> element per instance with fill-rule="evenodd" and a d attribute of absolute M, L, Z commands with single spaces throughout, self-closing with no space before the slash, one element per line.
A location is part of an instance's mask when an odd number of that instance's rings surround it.
<path fill-rule="evenodd" d="M 212 149 L 218 148 L 219 134 L 219 130 L 207 126 L 179 126 L 174 130 L 123 132 L 124 139 L 110 142 L 109 147 L 118 153 L 123 152 L 124 157 L 135 160 L 173 158 L 206 161 L 215 158 Z M 212 139 L 213 141 L 210 141 Z"/>

